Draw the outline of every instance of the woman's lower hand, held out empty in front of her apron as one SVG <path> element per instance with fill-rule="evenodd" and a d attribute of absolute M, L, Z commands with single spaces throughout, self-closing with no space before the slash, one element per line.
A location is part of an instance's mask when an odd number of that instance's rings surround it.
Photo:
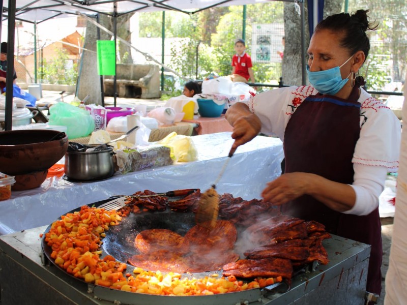
<path fill-rule="evenodd" d="M 303 172 L 286 173 L 268 182 L 261 192 L 264 201 L 281 205 L 294 200 L 309 191 L 313 174 Z"/>

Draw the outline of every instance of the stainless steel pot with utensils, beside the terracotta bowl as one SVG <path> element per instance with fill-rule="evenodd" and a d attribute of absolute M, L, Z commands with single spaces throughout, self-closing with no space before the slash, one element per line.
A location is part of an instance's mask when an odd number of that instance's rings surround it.
<path fill-rule="evenodd" d="M 65 175 L 78 181 L 102 180 L 114 174 L 113 146 L 98 151 L 67 151 Z"/>

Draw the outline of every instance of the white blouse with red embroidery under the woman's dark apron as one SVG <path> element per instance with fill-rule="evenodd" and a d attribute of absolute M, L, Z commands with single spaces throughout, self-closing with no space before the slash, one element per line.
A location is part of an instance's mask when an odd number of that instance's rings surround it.
<path fill-rule="evenodd" d="M 284 141 L 285 127 L 304 99 L 317 94 L 312 86 L 291 86 L 260 93 L 247 102 L 261 121 L 261 132 Z M 367 215 L 379 206 L 388 172 L 397 172 L 401 125 L 393 111 L 361 88 L 360 137 L 356 143 L 353 189 L 356 202 L 345 214 Z"/>

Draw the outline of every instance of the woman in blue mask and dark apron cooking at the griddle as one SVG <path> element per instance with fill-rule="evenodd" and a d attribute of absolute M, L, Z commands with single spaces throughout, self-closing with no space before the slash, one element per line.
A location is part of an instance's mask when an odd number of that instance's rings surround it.
<path fill-rule="evenodd" d="M 327 231 L 371 245 L 366 290 L 381 293 L 379 195 L 397 171 L 400 121 L 355 77 L 370 49 L 368 11 L 318 23 L 308 48 L 311 86 L 261 93 L 226 112 L 232 149 L 259 132 L 284 143 L 285 173 L 267 184 L 264 200 L 285 214 L 323 223 Z"/>

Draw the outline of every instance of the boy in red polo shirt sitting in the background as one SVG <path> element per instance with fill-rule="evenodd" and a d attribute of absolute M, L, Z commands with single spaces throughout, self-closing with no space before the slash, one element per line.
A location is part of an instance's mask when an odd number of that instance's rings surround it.
<path fill-rule="evenodd" d="M 235 42 L 236 54 L 232 57 L 232 81 L 247 82 L 249 79 L 254 83 L 253 65 L 249 54 L 245 52 L 246 46 L 243 39 L 238 39 Z"/>

